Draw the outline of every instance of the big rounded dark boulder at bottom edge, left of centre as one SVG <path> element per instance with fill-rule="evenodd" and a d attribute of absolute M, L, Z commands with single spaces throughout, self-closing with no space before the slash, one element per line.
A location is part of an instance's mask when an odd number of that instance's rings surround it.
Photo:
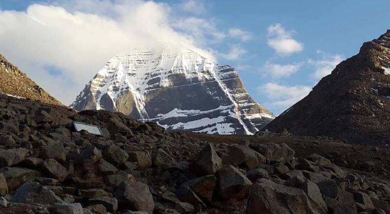
<path fill-rule="evenodd" d="M 154 200 L 149 186 L 141 182 L 122 182 L 114 192 L 119 205 L 123 209 L 145 211 L 153 214 Z"/>

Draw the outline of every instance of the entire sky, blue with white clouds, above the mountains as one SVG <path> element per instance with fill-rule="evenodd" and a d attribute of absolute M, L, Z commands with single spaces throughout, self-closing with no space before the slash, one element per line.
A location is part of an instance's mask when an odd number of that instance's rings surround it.
<path fill-rule="evenodd" d="M 386 32 L 389 8 L 388 0 L 7 0 L 0 1 L 0 53 L 69 104 L 113 53 L 145 37 L 175 37 L 234 66 L 254 99 L 278 115 Z"/>

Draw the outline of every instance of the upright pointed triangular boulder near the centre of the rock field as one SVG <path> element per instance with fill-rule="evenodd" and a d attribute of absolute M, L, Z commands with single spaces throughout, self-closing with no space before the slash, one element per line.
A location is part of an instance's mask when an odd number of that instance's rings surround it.
<path fill-rule="evenodd" d="M 206 144 L 196 155 L 195 160 L 190 164 L 189 169 L 197 175 L 207 176 L 215 174 L 222 168 L 222 160 L 216 154 L 211 143 Z"/>

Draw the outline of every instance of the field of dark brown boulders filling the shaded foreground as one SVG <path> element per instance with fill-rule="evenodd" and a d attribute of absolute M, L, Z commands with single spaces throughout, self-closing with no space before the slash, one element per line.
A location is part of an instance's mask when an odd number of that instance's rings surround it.
<path fill-rule="evenodd" d="M 390 214 L 387 179 L 294 156 L 286 143 L 208 143 L 0 95 L 1 214 Z"/>

